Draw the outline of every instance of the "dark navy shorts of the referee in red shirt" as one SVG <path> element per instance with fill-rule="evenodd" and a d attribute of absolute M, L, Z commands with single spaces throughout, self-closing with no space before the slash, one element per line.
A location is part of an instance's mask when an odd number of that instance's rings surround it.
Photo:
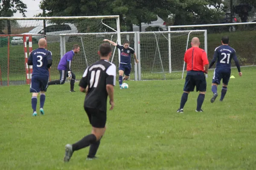
<path fill-rule="evenodd" d="M 203 71 L 188 71 L 183 91 L 206 91 L 206 79 Z"/>

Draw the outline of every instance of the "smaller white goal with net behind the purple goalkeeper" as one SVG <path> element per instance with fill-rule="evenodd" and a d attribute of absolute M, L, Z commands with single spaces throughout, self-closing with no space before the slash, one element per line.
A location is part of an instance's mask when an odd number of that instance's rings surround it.
<path fill-rule="evenodd" d="M 118 33 L 116 32 L 105 32 L 105 33 L 81 33 L 81 34 L 61 34 L 61 39 L 64 41 L 67 37 L 73 37 L 71 42 L 61 43 L 61 50 L 63 54 L 72 48 L 73 44 L 80 44 L 80 52 L 76 54 L 76 58 L 73 59 L 72 69 L 78 77 L 81 77 L 84 73 L 84 69 L 91 65 L 93 62 L 99 60 L 99 55 L 97 51 L 99 50 L 99 45 L 102 44 L 104 39 L 111 40 L 120 44 L 117 40 Z M 136 40 L 136 33 L 135 32 L 121 32 L 121 45 L 123 44 L 124 40 L 130 41 L 130 47 L 137 50 L 137 40 Z M 119 49 L 115 46 L 112 46 L 112 56 L 110 58 L 110 62 L 116 65 L 116 69 L 118 70 L 120 55 Z M 130 74 L 130 79 L 134 80 L 137 79 L 137 65 L 133 62 L 134 59 L 132 57 L 132 70 Z M 57 67 L 58 63 L 54 63 L 53 67 Z M 58 74 L 51 74 L 52 77 Z"/>

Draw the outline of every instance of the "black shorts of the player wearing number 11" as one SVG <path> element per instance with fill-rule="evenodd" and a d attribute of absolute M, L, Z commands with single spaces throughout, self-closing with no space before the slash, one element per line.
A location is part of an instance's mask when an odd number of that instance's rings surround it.
<path fill-rule="evenodd" d="M 89 118 L 90 124 L 93 127 L 104 128 L 107 122 L 107 112 L 100 111 L 96 108 L 84 107 L 85 112 Z"/>

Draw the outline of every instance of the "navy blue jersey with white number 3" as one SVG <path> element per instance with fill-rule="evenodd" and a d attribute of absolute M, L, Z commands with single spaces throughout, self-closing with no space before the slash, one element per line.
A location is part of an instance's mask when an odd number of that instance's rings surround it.
<path fill-rule="evenodd" d="M 33 65 L 32 75 L 49 76 L 48 68 L 52 65 L 52 52 L 44 48 L 38 48 L 31 52 L 28 65 Z"/>

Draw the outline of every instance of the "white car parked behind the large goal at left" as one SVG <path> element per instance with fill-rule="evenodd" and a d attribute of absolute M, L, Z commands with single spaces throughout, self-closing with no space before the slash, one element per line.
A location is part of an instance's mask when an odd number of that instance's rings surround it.
<path fill-rule="evenodd" d="M 74 24 L 46 24 L 46 38 L 47 42 L 59 42 L 59 34 L 76 34 L 78 30 Z M 44 38 L 44 26 L 37 26 L 28 33 L 32 34 L 32 43 L 37 44 L 40 38 Z M 69 40 L 69 36 L 66 37 L 66 41 Z M 29 37 L 26 37 L 26 42 L 29 41 Z M 12 45 L 23 45 L 23 37 L 13 37 L 11 41 Z"/>

